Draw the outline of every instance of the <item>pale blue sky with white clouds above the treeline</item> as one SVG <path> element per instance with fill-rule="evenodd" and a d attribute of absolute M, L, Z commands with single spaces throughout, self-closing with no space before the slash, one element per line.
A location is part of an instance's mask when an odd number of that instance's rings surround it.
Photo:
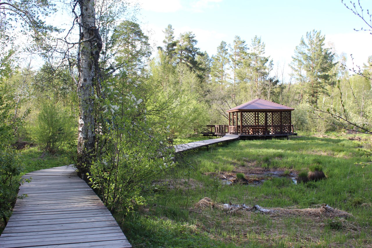
<path fill-rule="evenodd" d="M 231 44 L 238 35 L 249 45 L 261 36 L 270 56 L 280 70 L 289 73 L 295 47 L 302 36 L 313 29 L 325 35 L 326 47 L 347 55 L 347 65 L 363 66 L 372 55 L 372 35 L 354 31 L 363 21 L 348 10 L 341 0 L 136 0 L 141 5 L 137 16 L 156 48 L 162 45 L 163 30 L 171 24 L 175 36 L 191 31 L 197 47 L 209 56 L 221 41 Z M 349 3 L 349 0 L 345 2 Z M 371 0 L 360 0 L 365 9 Z M 349 4 L 350 5 L 350 4 Z"/>

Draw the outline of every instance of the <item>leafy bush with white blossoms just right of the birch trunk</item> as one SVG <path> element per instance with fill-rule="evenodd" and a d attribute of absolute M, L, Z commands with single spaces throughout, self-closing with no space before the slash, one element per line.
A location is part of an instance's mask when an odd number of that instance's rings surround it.
<path fill-rule="evenodd" d="M 171 150 L 165 146 L 169 127 L 148 118 L 144 100 L 135 96 L 140 88 L 140 82 L 118 78 L 102 89 L 103 122 L 96 159 L 87 174 L 106 206 L 122 214 L 143 204 L 141 190 L 173 166 Z"/>

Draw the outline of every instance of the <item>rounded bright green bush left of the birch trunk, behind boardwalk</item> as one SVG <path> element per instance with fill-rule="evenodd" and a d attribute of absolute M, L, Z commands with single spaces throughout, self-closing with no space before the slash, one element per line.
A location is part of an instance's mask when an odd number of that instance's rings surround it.
<path fill-rule="evenodd" d="M 46 101 L 41 104 L 40 112 L 29 127 L 31 136 L 41 149 L 52 154 L 71 142 L 76 135 L 75 118 L 59 103 Z"/>

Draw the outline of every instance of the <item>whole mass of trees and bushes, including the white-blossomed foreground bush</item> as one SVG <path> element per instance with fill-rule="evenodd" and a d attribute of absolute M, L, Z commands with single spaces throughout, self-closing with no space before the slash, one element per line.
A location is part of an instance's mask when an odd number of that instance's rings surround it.
<path fill-rule="evenodd" d="M 75 163 L 80 176 L 110 210 L 128 211 L 143 204 L 144 185 L 174 165 L 176 137 L 187 137 L 206 124 L 228 124 L 225 111 L 252 99 L 295 108 L 295 131 L 371 130 L 372 57 L 353 75 L 343 66 L 346 56 L 326 48 L 320 31 L 304 31 L 299 37 L 287 76 L 265 53 L 260 36 L 221 41 L 216 54 L 208 55 L 198 48 L 193 32 L 175 34 L 168 25 L 163 45 L 153 51 L 135 18 L 116 21 L 125 8 L 96 1 L 88 6 L 96 8 L 90 29 L 94 36 L 84 40 L 80 29 L 78 42 L 73 42 L 67 36 L 51 38 L 59 30 L 37 21 L 39 14 L 56 11 L 53 3 L 20 3 L 7 11 L 32 20 L 24 23 L 33 39 L 28 50 L 42 54 L 45 62 L 21 66 L 12 20 L 1 22 L 0 38 L 7 48 L 0 54 L 0 172 L 1 185 L 6 185 L 0 211 L 5 222 L 20 182 L 15 178 L 22 171 L 13 149 L 18 143 L 35 143 L 51 154 L 64 150 L 76 155 L 80 149 L 85 156 Z M 19 12 L 25 8 L 29 12 Z M 83 18 L 77 15 L 70 31 L 81 27 Z M 93 40 L 84 51 L 83 43 Z M 90 71 L 82 66 L 84 56 Z M 87 78 L 91 85 L 84 85 Z M 89 137 L 82 137 L 82 128 Z"/>

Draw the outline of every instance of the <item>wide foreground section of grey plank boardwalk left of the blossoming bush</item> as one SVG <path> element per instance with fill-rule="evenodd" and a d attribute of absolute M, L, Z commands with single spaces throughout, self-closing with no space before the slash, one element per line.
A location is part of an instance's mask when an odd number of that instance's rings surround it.
<path fill-rule="evenodd" d="M 118 223 L 72 166 L 34 171 L 19 187 L 1 248 L 131 247 Z"/>

